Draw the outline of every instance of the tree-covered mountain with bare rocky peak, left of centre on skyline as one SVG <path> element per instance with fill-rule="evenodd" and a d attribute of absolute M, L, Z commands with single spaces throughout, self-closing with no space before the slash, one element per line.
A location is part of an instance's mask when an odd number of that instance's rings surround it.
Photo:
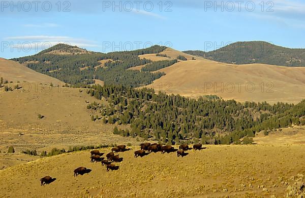
<path fill-rule="evenodd" d="M 166 47 L 153 46 L 130 52 L 103 54 L 85 51 L 87 53 L 80 53 L 82 49 L 65 44 L 58 44 L 37 55 L 12 60 L 25 63 L 35 71 L 76 86 L 93 84 L 94 79 L 97 79 L 104 81 L 108 85 L 139 87 L 151 84 L 154 80 L 164 75 L 164 73 L 141 72 L 127 69 L 151 63 L 150 60 L 140 59 L 138 57 L 139 55 L 157 54 L 165 49 Z M 106 62 L 100 66 L 101 63 L 99 61 L 107 59 L 113 61 Z M 160 64 L 157 62 L 157 65 Z"/>

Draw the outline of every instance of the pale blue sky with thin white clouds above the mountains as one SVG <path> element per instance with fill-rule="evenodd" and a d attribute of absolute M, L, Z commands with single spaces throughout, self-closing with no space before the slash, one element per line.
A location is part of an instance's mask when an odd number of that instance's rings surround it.
<path fill-rule="evenodd" d="M 57 43 L 99 52 L 154 44 L 211 51 L 237 41 L 305 48 L 305 2 L 295 0 L 2 1 L 0 19 L 4 58 Z"/>

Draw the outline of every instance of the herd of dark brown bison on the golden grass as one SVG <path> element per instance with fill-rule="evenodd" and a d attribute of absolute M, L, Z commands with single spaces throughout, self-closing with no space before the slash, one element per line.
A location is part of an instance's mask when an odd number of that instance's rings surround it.
<path fill-rule="evenodd" d="M 141 149 L 137 150 L 134 152 L 134 157 L 137 158 L 139 157 L 143 157 L 145 155 L 148 155 L 151 152 L 161 152 L 162 154 L 166 153 L 171 153 L 171 152 L 177 152 L 177 157 L 181 156 L 184 157 L 186 155 L 188 155 L 188 153 L 186 151 L 192 149 L 189 148 L 189 145 L 187 144 L 182 144 L 179 146 L 179 149 L 175 149 L 173 146 L 170 145 L 166 145 L 166 146 L 162 146 L 161 144 L 150 144 L 150 143 L 142 143 L 140 144 Z M 193 150 L 201 150 L 203 149 L 202 144 L 194 144 L 193 145 Z M 118 170 L 119 166 L 116 166 L 113 163 L 119 163 L 123 161 L 123 157 L 119 157 L 118 154 L 114 154 L 114 153 L 118 153 L 118 152 L 125 152 L 127 150 L 130 149 L 126 149 L 125 145 L 119 145 L 116 147 L 113 147 L 111 149 L 111 152 L 106 154 L 106 158 L 107 160 L 105 160 L 105 157 L 102 157 L 105 153 L 101 153 L 99 150 L 93 150 L 90 151 L 90 162 L 91 163 L 97 163 L 100 162 L 102 164 L 102 166 L 106 166 L 106 171 L 108 172 L 109 170 L 111 171 L 115 171 Z M 74 170 L 74 177 L 78 176 L 78 175 L 84 175 L 85 173 L 89 173 L 91 170 L 87 169 L 86 167 L 79 167 L 77 169 Z M 45 184 L 50 184 L 53 181 L 55 181 L 56 178 L 51 178 L 50 176 L 46 176 L 44 178 L 40 179 L 41 185 L 45 185 Z"/>

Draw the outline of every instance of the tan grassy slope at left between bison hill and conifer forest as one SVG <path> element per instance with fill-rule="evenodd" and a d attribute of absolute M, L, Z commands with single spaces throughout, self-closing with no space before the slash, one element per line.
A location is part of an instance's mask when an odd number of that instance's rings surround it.
<path fill-rule="evenodd" d="M 89 96 L 85 89 L 79 90 L 32 85 L 31 89 L 0 92 L 0 151 L 7 151 L 10 145 L 19 153 L 23 149 L 49 151 L 53 147 L 97 146 L 114 141 L 138 144 L 133 138 L 113 135 L 112 125 L 91 121 L 87 105 L 94 101 L 107 103 Z M 44 118 L 39 119 L 38 114 Z"/>

